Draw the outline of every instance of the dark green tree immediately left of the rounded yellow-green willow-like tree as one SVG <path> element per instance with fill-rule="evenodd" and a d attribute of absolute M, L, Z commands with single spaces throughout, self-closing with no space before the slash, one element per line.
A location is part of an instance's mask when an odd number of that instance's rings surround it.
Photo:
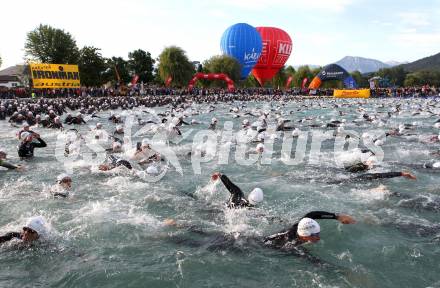
<path fill-rule="evenodd" d="M 128 53 L 128 68 L 132 75 L 139 76 L 139 82 L 149 83 L 154 80 L 154 63 L 150 52 L 138 49 Z"/>

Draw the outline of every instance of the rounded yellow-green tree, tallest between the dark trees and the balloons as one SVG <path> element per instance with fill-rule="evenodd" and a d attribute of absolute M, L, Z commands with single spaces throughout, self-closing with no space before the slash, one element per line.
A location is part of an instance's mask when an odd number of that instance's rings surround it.
<path fill-rule="evenodd" d="M 173 78 L 172 86 L 184 87 L 194 73 L 194 65 L 188 60 L 182 48 L 170 46 L 159 55 L 158 75 L 162 84 L 171 76 Z"/>

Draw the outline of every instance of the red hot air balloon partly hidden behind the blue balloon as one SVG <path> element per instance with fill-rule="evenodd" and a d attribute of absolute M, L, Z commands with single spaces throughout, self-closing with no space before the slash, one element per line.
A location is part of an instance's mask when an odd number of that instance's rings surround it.
<path fill-rule="evenodd" d="M 285 31 L 275 27 L 257 27 L 263 40 L 263 50 L 252 74 L 261 86 L 277 74 L 292 52 L 292 39 Z"/>

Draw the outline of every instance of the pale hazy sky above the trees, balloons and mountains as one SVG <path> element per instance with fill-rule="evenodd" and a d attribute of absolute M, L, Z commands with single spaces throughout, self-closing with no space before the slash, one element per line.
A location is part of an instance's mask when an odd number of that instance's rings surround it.
<path fill-rule="evenodd" d="M 26 33 L 40 23 L 105 57 L 139 48 L 157 57 L 177 45 L 203 61 L 220 54 L 223 31 L 238 22 L 289 33 L 290 65 L 347 55 L 414 61 L 440 52 L 440 0 L 6 0 L 0 7 L 2 68 L 23 62 Z"/>

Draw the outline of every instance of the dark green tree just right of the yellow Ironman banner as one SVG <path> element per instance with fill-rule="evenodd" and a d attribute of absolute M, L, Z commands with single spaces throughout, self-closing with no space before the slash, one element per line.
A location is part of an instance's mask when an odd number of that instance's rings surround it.
<path fill-rule="evenodd" d="M 107 69 L 101 49 L 92 46 L 84 46 L 79 51 L 79 72 L 81 85 L 100 86 L 105 82 L 104 74 Z"/>

